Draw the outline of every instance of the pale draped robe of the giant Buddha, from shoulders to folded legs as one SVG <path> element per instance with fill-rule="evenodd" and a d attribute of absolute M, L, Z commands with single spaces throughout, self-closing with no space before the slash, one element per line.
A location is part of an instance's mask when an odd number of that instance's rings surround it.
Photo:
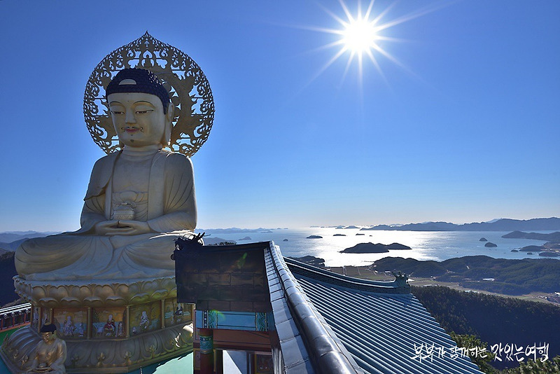
<path fill-rule="evenodd" d="M 29 280 L 132 279 L 174 275 L 174 239 L 196 226 L 190 159 L 169 151 L 125 151 L 97 160 L 85 195 L 81 228 L 23 242 L 15 268 Z M 122 202 L 151 233 L 97 235 Z"/>

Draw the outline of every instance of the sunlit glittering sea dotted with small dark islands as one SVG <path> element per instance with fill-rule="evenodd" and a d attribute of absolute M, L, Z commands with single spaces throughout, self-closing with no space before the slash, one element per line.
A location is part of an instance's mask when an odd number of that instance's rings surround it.
<path fill-rule="evenodd" d="M 199 231 L 199 230 L 197 230 Z M 542 245 L 544 240 L 505 239 L 502 235 L 510 231 L 396 231 L 396 230 L 360 230 L 359 228 L 278 228 L 271 230 L 239 230 L 235 233 L 204 231 L 209 237 L 220 237 L 235 241 L 237 244 L 249 242 L 269 242 L 280 247 L 283 256 L 316 256 L 325 260 L 326 266 L 363 266 L 385 257 L 414 258 L 419 261 L 444 261 L 449 258 L 484 255 L 493 258 L 545 258 L 538 252 L 512 252 L 528 245 Z M 538 231 L 551 233 L 551 231 Z M 346 236 L 334 236 L 342 234 Z M 363 234 L 363 235 L 358 235 Z M 310 235 L 321 238 L 308 239 Z M 250 237 L 250 239 L 244 239 Z M 498 247 L 484 247 L 486 242 Z M 358 243 L 405 244 L 412 249 L 391 250 L 383 254 L 342 254 L 343 249 Z M 547 257 L 549 258 L 549 257 Z M 556 257 L 558 258 L 558 257 Z M 559 258 L 560 259 L 560 258 Z"/>

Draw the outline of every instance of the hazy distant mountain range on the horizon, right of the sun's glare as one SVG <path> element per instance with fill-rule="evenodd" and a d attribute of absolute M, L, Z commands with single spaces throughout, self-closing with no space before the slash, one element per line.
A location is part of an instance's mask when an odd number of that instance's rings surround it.
<path fill-rule="evenodd" d="M 498 219 L 489 222 L 473 222 L 456 225 L 449 222 L 409 223 L 402 226 L 378 225 L 360 230 L 398 231 L 549 231 L 560 230 L 560 219 L 556 217 L 539 219 Z"/>

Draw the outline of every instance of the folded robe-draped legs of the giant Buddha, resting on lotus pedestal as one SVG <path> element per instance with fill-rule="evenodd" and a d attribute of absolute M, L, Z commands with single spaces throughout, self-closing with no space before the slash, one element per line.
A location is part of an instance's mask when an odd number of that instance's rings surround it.
<path fill-rule="evenodd" d="M 189 231 L 144 235 L 53 235 L 26 240 L 15 267 L 28 280 L 132 279 L 175 274 L 174 240 Z"/>

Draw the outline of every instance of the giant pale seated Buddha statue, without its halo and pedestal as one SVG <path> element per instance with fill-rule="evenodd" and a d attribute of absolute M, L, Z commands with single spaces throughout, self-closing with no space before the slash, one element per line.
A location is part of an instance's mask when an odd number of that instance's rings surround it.
<path fill-rule="evenodd" d="M 81 228 L 23 242 L 27 280 L 132 279 L 174 275 L 174 239 L 197 223 L 193 165 L 169 145 L 174 106 L 146 69 L 123 69 L 106 88 L 120 151 L 95 163 Z"/>

